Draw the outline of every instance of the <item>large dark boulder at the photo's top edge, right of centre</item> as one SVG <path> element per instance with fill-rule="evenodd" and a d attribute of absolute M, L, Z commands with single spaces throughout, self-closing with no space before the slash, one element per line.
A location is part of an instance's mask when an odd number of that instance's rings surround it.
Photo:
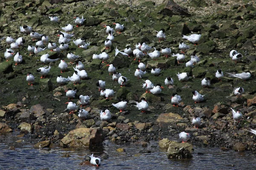
<path fill-rule="evenodd" d="M 164 1 L 163 5 L 160 5 L 159 13 L 170 17 L 172 17 L 172 15 L 190 16 L 189 11 L 186 8 L 177 5 L 173 0 Z"/>

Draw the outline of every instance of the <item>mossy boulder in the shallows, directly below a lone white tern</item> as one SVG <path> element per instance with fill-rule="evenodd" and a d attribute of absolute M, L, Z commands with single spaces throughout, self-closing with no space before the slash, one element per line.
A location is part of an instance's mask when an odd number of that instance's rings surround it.
<path fill-rule="evenodd" d="M 168 159 L 192 158 L 193 145 L 171 141 L 167 150 Z"/>

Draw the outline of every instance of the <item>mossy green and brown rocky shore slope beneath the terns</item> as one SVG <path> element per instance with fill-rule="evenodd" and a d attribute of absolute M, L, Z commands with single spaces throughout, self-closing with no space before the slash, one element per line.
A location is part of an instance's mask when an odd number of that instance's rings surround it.
<path fill-rule="evenodd" d="M 9 48 L 5 40 L 0 42 L 3 49 L 0 53 L 0 84 L 2 100 L 0 101 L 0 130 L 1 133 L 20 129 L 23 138 L 31 138 L 37 143 L 35 147 L 84 147 L 100 144 L 105 138 L 119 144 L 135 143 L 146 145 L 151 140 L 168 138 L 178 140 L 178 133 L 186 131 L 191 134 L 190 142 L 196 146 L 224 147 L 235 150 L 250 150 L 255 152 L 255 136 L 246 131 L 248 127 L 254 128 L 256 123 L 256 6 L 255 3 L 244 1 L 204 1 L 189 0 L 175 1 L 129 1 L 117 3 L 109 1 L 75 2 L 76 0 L 10 0 L 0 3 L 0 37 L 24 37 L 25 48 L 20 49 L 23 62 L 14 65 L 11 60 L 6 62 L 4 51 Z M 119 1 L 118 1 L 119 2 Z M 49 16 L 58 16 L 60 23 L 51 23 Z M 74 32 L 78 39 L 86 37 L 90 42 L 87 50 L 77 48 L 70 43 L 69 51 L 81 56 L 79 60 L 84 63 L 89 78 L 81 80 L 79 85 L 71 82 L 59 86 L 56 77 L 60 74 L 58 63 L 50 63 L 50 74 L 46 79 L 40 79 L 36 69 L 44 66 L 40 62 L 42 54 L 49 52 L 51 58 L 66 59 L 68 51 L 56 54 L 49 50 L 38 55 L 29 56 L 26 47 L 31 43 L 35 45 L 29 35 L 20 33 L 19 26 L 24 24 L 32 26 L 38 33 L 49 36 L 53 42 L 58 41 L 58 31 L 67 23 L 75 26 L 73 17 L 83 15 L 86 22 L 76 28 Z M 111 49 L 105 50 L 104 42 L 106 24 L 122 23 L 125 31 L 114 34 L 115 39 Z M 158 42 L 155 30 L 166 30 L 167 39 Z M 186 60 L 190 54 L 197 51 L 201 61 L 195 68 L 186 68 L 185 63 L 175 65 L 174 57 L 160 57 L 153 61 L 147 55 L 142 59 L 147 63 L 148 73 L 143 78 L 150 79 L 154 84 L 164 85 L 164 79 L 171 76 L 175 85 L 165 87 L 161 94 L 145 94 L 142 80 L 134 77 L 138 61 L 133 57 L 127 58 L 118 54 L 114 57 L 116 46 L 124 49 L 126 44 L 135 48 L 137 42 L 146 42 L 158 50 L 169 47 L 176 54 L 180 52 L 178 44 L 182 34 L 202 34 L 199 45 L 190 45 L 186 52 Z M 189 44 L 188 41 L 185 41 Z M 239 51 L 243 58 L 235 64 L 229 57 L 232 49 Z M 15 50 L 17 51 L 17 50 Z M 117 71 L 128 77 L 129 84 L 120 88 L 117 82 L 112 81 L 108 75 L 108 67 L 100 60 L 93 60 L 94 53 L 102 51 L 110 55 L 107 63 L 112 63 Z M 74 64 L 69 64 L 69 70 L 61 74 L 64 77 L 72 76 Z M 153 66 L 162 69 L 160 76 L 150 74 Z M 247 81 L 224 77 L 222 81 L 215 78 L 218 69 L 223 72 L 241 73 L 250 71 L 252 77 Z M 31 72 L 36 77 L 34 86 L 27 85 L 26 74 Z M 179 82 L 176 74 L 189 72 L 191 77 L 187 82 Z M 201 80 L 211 78 L 211 87 L 203 88 Z M 99 95 L 96 82 L 106 81 L 106 88 L 116 91 L 116 96 L 106 100 Z M 241 98 L 233 95 L 233 88 L 243 87 L 245 93 Z M 93 95 L 90 105 L 84 107 L 90 111 L 86 120 L 79 120 L 77 113 L 68 114 L 65 110 L 65 96 L 67 88 L 78 89 L 79 95 Z M 206 100 L 194 104 L 192 90 L 205 94 Z M 183 102 L 179 107 L 171 105 L 173 92 L 181 95 Z M 145 96 L 150 107 L 146 113 L 140 113 L 135 107 L 135 101 Z M 122 99 L 129 99 L 127 111 L 119 113 L 111 106 Z M 243 119 L 234 122 L 230 107 L 240 109 Z M 109 122 L 99 119 L 99 112 L 108 108 L 112 113 Z M 202 119 L 198 129 L 193 128 L 191 120 L 194 116 Z M 91 127 L 91 128 L 90 128 Z M 90 128 L 90 129 L 88 129 Z M 74 138 L 74 136 L 76 136 Z M 169 144 L 169 142 L 167 142 Z"/>

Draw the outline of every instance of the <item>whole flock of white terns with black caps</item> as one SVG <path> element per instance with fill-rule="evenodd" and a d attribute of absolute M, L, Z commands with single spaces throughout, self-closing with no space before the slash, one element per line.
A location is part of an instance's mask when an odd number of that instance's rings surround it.
<path fill-rule="evenodd" d="M 58 17 L 49 17 L 49 18 L 50 18 L 50 21 L 52 21 L 52 22 L 59 22 Z M 76 27 L 83 25 L 84 20 L 85 20 L 83 16 L 81 18 L 76 16 L 74 18 L 76 19 L 75 20 Z M 122 25 L 119 23 L 113 23 L 113 24 L 116 25 L 115 31 L 117 33 L 120 34 L 124 30 L 124 24 L 122 24 Z M 113 33 L 115 31 L 109 25 L 104 26 L 104 27 L 106 28 L 106 34 L 108 34 L 108 37 L 105 41 L 105 47 L 106 47 L 106 49 L 108 49 L 108 48 L 111 48 L 111 46 L 112 46 L 112 42 L 114 40 Z M 29 34 L 33 40 L 38 40 L 35 43 L 35 46 L 33 46 L 32 44 L 28 45 L 27 50 L 30 53 L 30 55 L 32 55 L 32 54 L 36 55 L 36 54 L 40 53 L 41 51 L 44 51 L 46 48 L 48 48 L 51 51 L 55 51 L 57 53 L 60 53 L 62 51 L 67 51 L 69 48 L 68 44 L 70 43 L 70 40 L 71 40 L 70 38 L 75 36 L 75 34 L 73 34 L 73 33 L 69 34 L 73 31 L 73 26 L 71 24 L 67 24 L 65 27 L 62 27 L 62 30 L 64 32 L 58 31 L 58 36 L 59 36 L 59 40 L 58 40 L 59 46 L 58 46 L 58 45 L 56 45 L 55 42 L 49 41 L 49 38 L 47 35 L 39 34 L 35 31 L 33 31 L 32 27 L 26 26 L 26 25 L 20 26 L 20 31 L 22 33 Z M 164 29 L 161 29 L 160 31 L 156 31 L 156 32 L 157 32 L 157 39 L 159 40 L 159 42 L 161 40 L 166 39 Z M 3 37 L 1 40 L 4 40 L 4 38 L 5 37 Z M 183 35 L 183 38 L 189 40 L 193 44 L 197 44 L 201 38 L 201 34 L 191 34 L 189 36 Z M 17 40 L 14 40 L 12 37 L 6 37 L 6 43 L 10 45 L 10 48 L 6 48 L 6 51 L 4 53 L 6 62 L 8 62 L 10 59 L 13 58 L 15 65 L 22 63 L 22 61 L 23 61 L 22 56 L 20 55 L 19 52 L 17 52 L 15 54 L 15 51 L 13 49 L 20 50 L 20 47 L 24 47 L 25 42 L 26 42 L 26 40 L 23 37 L 19 37 L 19 38 L 17 38 Z M 44 48 L 44 44 L 46 44 L 47 42 L 48 42 L 48 45 L 47 45 L 47 47 Z M 77 40 L 73 40 L 73 43 L 76 46 L 78 46 L 80 48 L 84 48 L 84 49 L 87 49 L 87 47 L 90 45 L 90 42 L 89 43 L 85 42 L 85 37 L 81 37 Z M 140 62 L 140 59 L 142 59 L 143 56 L 145 56 L 146 54 L 151 59 L 157 59 L 158 57 L 160 57 L 160 53 L 161 53 L 165 57 L 169 57 L 169 56 L 175 57 L 175 60 L 179 64 L 179 63 L 185 61 L 184 53 L 189 48 L 190 48 L 189 45 L 186 45 L 184 42 L 180 42 L 179 49 L 181 50 L 181 54 L 180 53 L 172 54 L 172 50 L 170 48 L 162 48 L 161 51 L 157 51 L 157 49 L 154 48 L 153 52 L 149 52 L 151 50 L 151 47 L 149 45 L 147 45 L 145 42 L 142 44 L 140 44 L 140 42 L 138 42 L 136 44 L 134 50 L 132 50 L 129 45 L 126 46 L 126 48 L 124 49 L 124 52 L 119 51 L 116 47 L 115 56 L 118 53 L 121 53 L 122 55 L 124 55 L 126 57 L 127 56 L 129 57 L 130 55 L 133 54 L 135 57 L 134 60 L 138 59 Z M 186 67 L 193 68 L 195 66 L 195 64 L 200 61 L 199 57 L 196 56 L 195 53 L 196 53 L 196 51 L 191 54 L 191 59 L 188 62 L 186 62 Z M 242 55 L 240 53 L 238 53 L 237 51 L 232 50 L 232 51 L 230 51 L 230 57 L 232 58 L 233 61 L 239 62 L 241 60 Z M 77 84 L 80 82 L 81 79 L 88 78 L 87 72 L 84 70 L 83 63 L 81 61 L 76 61 L 78 58 L 79 58 L 79 56 L 73 54 L 72 52 L 69 52 L 67 54 L 67 59 L 69 59 L 70 62 L 76 62 L 76 67 L 73 67 L 74 73 L 73 73 L 73 76 L 71 76 L 71 77 L 64 78 L 61 75 L 58 75 L 57 83 L 59 85 L 64 85 L 64 84 L 68 83 L 69 81 L 73 82 L 74 84 Z M 105 62 L 106 60 L 109 59 L 109 55 L 106 52 L 102 52 L 101 54 L 93 54 L 92 58 L 93 59 L 101 59 L 102 62 Z M 58 60 L 59 59 L 50 59 L 49 54 L 44 54 L 40 58 L 40 61 L 44 64 L 48 64 L 50 62 L 56 62 Z M 113 64 L 108 64 L 107 66 L 109 66 L 109 68 L 108 68 L 109 75 L 113 75 L 112 76 L 113 81 L 117 81 L 121 87 L 127 85 L 127 83 L 128 83 L 127 77 L 124 77 L 124 76 L 122 76 L 121 73 L 117 72 L 116 68 L 114 67 Z M 61 60 L 58 65 L 58 68 L 61 70 L 61 73 L 63 73 L 63 72 L 65 72 L 65 70 L 67 70 L 68 65 L 64 60 Z M 39 74 L 41 74 L 41 78 L 45 78 L 49 74 L 50 69 L 51 69 L 51 66 L 41 67 L 41 68 L 37 69 L 37 72 Z M 134 76 L 137 77 L 137 79 L 143 78 L 143 76 L 146 74 L 145 69 L 146 69 L 146 65 L 143 62 L 140 62 L 135 73 L 134 73 Z M 160 68 L 153 67 L 151 69 L 151 74 L 153 74 L 154 76 L 158 76 L 158 75 L 160 75 L 160 71 L 161 71 Z M 246 73 L 243 72 L 240 74 L 231 74 L 231 73 L 227 73 L 227 74 L 230 77 L 238 77 L 243 80 L 249 79 L 251 76 L 250 71 L 248 71 Z M 220 81 L 221 81 L 221 77 L 223 77 L 223 76 L 224 76 L 224 74 L 221 71 L 221 69 L 216 71 L 215 77 L 217 77 Z M 187 81 L 189 79 L 189 73 L 186 73 L 186 72 L 179 73 L 178 72 L 177 77 L 178 77 L 178 80 L 181 82 Z M 33 85 L 33 82 L 35 81 L 35 77 L 31 73 L 28 73 L 27 77 L 26 77 L 26 81 L 28 82 L 28 85 Z M 146 93 L 152 93 L 152 94 L 160 94 L 161 93 L 163 87 L 160 84 L 154 85 L 149 79 L 146 79 L 144 82 L 145 83 L 143 83 L 143 88 L 145 88 Z M 164 83 L 166 86 L 174 85 L 174 80 L 171 77 L 166 77 L 166 79 L 164 80 Z M 209 77 L 204 78 L 201 81 L 201 85 L 204 88 L 209 88 L 210 78 Z M 112 89 L 105 88 L 104 81 L 99 80 L 96 83 L 96 86 L 99 88 L 100 95 L 105 96 L 106 99 L 108 99 L 108 98 L 111 99 L 114 96 L 114 91 Z M 73 99 L 73 98 L 75 98 L 76 91 L 77 91 L 76 89 L 74 89 L 74 90 L 68 89 L 66 91 L 66 96 L 69 99 Z M 199 94 L 198 91 L 194 90 L 194 91 L 192 91 L 192 94 L 193 94 L 192 99 L 195 101 L 195 103 L 204 101 L 204 95 Z M 234 94 L 236 96 L 241 96 L 242 94 L 244 94 L 244 89 L 242 87 L 238 87 L 234 90 Z M 90 97 L 91 96 L 80 95 L 78 103 L 80 105 L 88 105 Z M 178 107 L 178 104 L 181 102 L 181 100 L 182 100 L 181 97 L 177 93 L 172 94 L 171 102 L 174 106 Z M 70 113 L 74 113 L 74 111 L 77 110 L 78 106 L 76 105 L 76 103 L 66 102 L 66 104 L 68 104 L 67 110 L 69 110 Z M 112 105 L 114 107 L 116 107 L 117 109 L 119 109 L 120 112 L 122 112 L 122 111 L 125 111 L 127 104 L 128 104 L 128 100 L 125 99 L 121 102 L 118 102 L 118 103 L 112 104 Z M 136 102 L 135 106 L 141 112 L 145 112 L 148 109 L 149 105 L 146 102 L 145 98 L 142 97 L 140 99 L 140 102 Z M 233 112 L 233 119 L 235 119 L 237 121 L 242 119 L 241 111 L 239 111 L 239 110 L 234 111 L 232 109 L 232 112 Z M 86 111 L 84 109 L 79 109 L 78 113 L 79 113 L 78 116 L 80 119 L 86 119 L 88 116 L 88 111 Z M 100 113 L 100 119 L 102 119 L 104 121 L 108 121 L 109 119 L 111 119 L 110 111 L 108 109 L 102 110 Z M 199 117 L 194 117 L 194 119 L 192 120 L 192 124 L 195 125 L 196 128 L 198 128 L 198 126 L 201 124 L 201 119 Z M 250 131 L 252 133 L 256 134 L 255 130 L 250 130 Z M 182 142 L 186 142 L 190 138 L 190 135 L 189 135 L 189 133 L 181 132 L 179 134 L 179 137 L 182 140 Z M 91 158 L 90 159 L 91 164 L 94 164 L 96 166 L 100 165 L 101 160 L 99 158 L 94 157 L 93 154 L 90 156 L 90 158 Z"/>

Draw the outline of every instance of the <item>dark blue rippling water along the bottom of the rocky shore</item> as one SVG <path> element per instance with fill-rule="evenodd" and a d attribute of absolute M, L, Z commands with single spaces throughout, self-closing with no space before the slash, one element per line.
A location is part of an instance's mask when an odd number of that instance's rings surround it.
<path fill-rule="evenodd" d="M 169 160 L 165 150 L 160 150 L 157 142 L 148 147 L 135 145 L 119 146 L 105 141 L 102 148 L 95 150 L 70 150 L 55 148 L 49 151 L 34 149 L 34 143 L 26 141 L 16 143 L 17 134 L 0 135 L 0 170 L 256 170 L 256 156 L 238 153 L 233 150 L 221 151 L 219 148 L 195 148 L 192 159 Z M 9 150 L 15 146 L 15 150 Z M 126 152 L 118 153 L 117 148 Z M 150 150 L 151 153 L 140 153 Z M 198 152 L 204 155 L 197 155 Z M 65 153 L 71 157 L 62 157 Z M 101 167 L 79 165 L 84 157 L 94 153 L 99 156 L 107 153 L 109 159 L 102 160 Z"/>

